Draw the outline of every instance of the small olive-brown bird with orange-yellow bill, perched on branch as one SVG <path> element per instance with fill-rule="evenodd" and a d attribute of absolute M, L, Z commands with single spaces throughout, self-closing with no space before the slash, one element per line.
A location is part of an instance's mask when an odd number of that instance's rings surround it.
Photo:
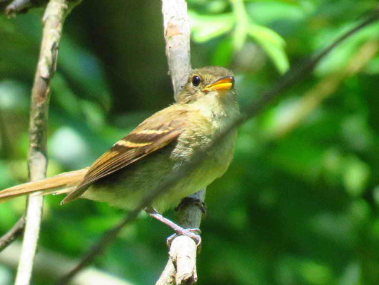
<path fill-rule="evenodd" d="M 67 194 L 61 204 L 84 198 L 133 210 L 174 170 L 205 150 L 239 115 L 233 72 L 207 66 L 189 72 L 176 103 L 156 112 L 117 141 L 87 168 L 0 191 L 0 203 L 20 195 Z M 207 187 L 229 167 L 236 130 L 207 149 L 203 161 L 145 209 L 150 215 L 174 208 Z M 164 222 L 164 221 L 162 221 Z"/>

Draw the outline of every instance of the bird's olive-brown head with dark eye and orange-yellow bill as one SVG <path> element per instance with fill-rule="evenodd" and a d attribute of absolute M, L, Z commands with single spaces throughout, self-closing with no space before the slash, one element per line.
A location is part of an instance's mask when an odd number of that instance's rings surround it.
<path fill-rule="evenodd" d="M 232 71 L 220 66 L 207 66 L 190 72 L 188 81 L 178 95 L 181 104 L 196 101 L 216 100 L 235 101 L 234 75 Z"/>

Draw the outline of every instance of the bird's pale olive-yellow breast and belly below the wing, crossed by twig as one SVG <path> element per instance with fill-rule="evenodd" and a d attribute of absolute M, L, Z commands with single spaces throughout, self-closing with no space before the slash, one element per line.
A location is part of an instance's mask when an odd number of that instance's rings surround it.
<path fill-rule="evenodd" d="M 221 126 L 221 124 L 219 124 Z M 203 116 L 189 118 L 187 126 L 172 144 L 136 161 L 123 170 L 97 181 L 84 197 L 114 206 L 133 209 L 150 191 L 158 187 L 165 177 L 211 143 L 221 129 Z M 201 164 L 177 181 L 176 185 L 157 197 L 152 206 L 163 211 L 177 206 L 184 197 L 205 188 L 221 177 L 234 153 L 236 132 L 231 132 L 219 144 L 207 151 Z"/>

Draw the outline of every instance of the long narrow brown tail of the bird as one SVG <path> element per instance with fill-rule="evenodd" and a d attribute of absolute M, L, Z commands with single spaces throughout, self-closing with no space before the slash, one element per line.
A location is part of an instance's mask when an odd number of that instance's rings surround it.
<path fill-rule="evenodd" d="M 88 168 L 61 173 L 39 181 L 32 181 L 0 191 L 0 203 L 21 195 L 39 193 L 40 195 L 70 193 L 83 180 Z"/>

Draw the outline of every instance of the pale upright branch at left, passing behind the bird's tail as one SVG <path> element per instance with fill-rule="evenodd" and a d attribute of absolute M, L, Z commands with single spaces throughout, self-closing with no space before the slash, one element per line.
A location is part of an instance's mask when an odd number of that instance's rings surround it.
<path fill-rule="evenodd" d="M 77 2 L 75 2 L 76 4 Z M 73 5 L 72 5 L 73 6 Z M 48 103 L 50 81 L 57 67 L 58 47 L 65 17 L 70 12 L 66 0 L 51 0 L 43 15 L 43 35 L 30 104 L 28 167 L 30 181 L 45 178 Z M 43 210 L 43 196 L 28 196 L 23 247 L 15 284 L 30 284 Z"/>

